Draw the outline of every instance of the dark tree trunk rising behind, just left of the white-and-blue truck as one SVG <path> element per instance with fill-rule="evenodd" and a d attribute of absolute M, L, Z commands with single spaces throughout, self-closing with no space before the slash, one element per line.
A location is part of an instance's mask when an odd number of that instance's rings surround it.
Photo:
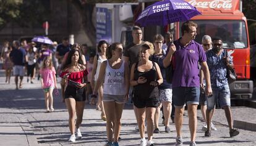
<path fill-rule="evenodd" d="M 88 36 L 91 36 L 89 38 L 91 39 L 92 44 L 96 44 L 95 39 L 96 38 L 96 28 L 93 24 L 93 10 L 95 9 L 96 3 L 102 3 L 102 2 L 124 2 L 124 1 L 111 1 L 111 0 L 69 0 L 74 4 L 75 8 L 79 11 L 80 15 L 82 15 L 82 23 L 83 23 L 83 30 Z M 135 0 L 129 0 L 126 2 L 137 2 Z"/>

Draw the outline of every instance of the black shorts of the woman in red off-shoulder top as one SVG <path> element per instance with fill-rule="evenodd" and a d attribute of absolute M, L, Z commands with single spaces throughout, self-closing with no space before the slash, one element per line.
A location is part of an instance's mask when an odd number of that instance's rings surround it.
<path fill-rule="evenodd" d="M 65 90 L 65 99 L 73 98 L 77 102 L 85 101 L 85 90 L 83 88 L 79 89 L 73 86 L 67 86 Z"/>

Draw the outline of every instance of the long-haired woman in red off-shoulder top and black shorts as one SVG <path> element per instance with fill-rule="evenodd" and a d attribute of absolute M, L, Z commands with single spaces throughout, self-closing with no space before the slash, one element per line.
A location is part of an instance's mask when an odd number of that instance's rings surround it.
<path fill-rule="evenodd" d="M 67 56 L 66 63 L 62 66 L 61 77 L 67 79 L 65 89 L 65 103 L 69 110 L 69 129 L 71 136 L 69 142 L 75 142 L 75 139 L 82 138 L 79 126 L 83 119 L 83 108 L 85 106 L 85 87 L 87 81 L 87 70 L 82 65 L 82 58 L 79 50 L 72 49 Z M 75 123 L 75 114 L 77 120 Z M 77 137 L 75 137 L 75 131 Z"/>

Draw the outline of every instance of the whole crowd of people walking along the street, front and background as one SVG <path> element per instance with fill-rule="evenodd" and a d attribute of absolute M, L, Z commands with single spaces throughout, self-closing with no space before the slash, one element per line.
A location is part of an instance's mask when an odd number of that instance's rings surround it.
<path fill-rule="evenodd" d="M 67 38 L 57 46 L 14 41 L 4 44 L 1 57 L 6 69 L 6 83 L 10 83 L 11 71 L 16 89 L 22 88 L 27 70 L 27 81 L 33 84 L 36 70 L 45 92 L 46 112 L 54 112 L 53 90 L 57 88 L 56 76 L 62 78 L 61 93 L 69 113 L 69 142 L 82 138 L 80 125 L 85 102 L 95 104 L 106 121 L 108 142 L 106 146 L 119 145 L 121 116 L 124 103 L 134 104 L 141 146 L 153 146 L 153 133 L 159 133 L 160 109 L 163 110 L 164 132 L 169 133 L 169 121 L 176 128 L 176 146 L 183 145 L 182 123 L 185 106 L 189 116 L 190 146 L 195 146 L 197 132 L 197 107 L 200 105 L 205 125 L 205 137 L 217 130 L 211 122 L 215 105 L 220 103 L 229 125 L 229 136 L 237 136 L 233 128 L 230 91 L 227 78 L 233 60 L 222 48 L 221 38 L 206 35 L 202 44 L 194 41 L 197 24 L 184 22 L 181 38 L 173 41 L 170 32 L 163 37 L 156 34 L 153 43 L 142 41 L 142 29 L 132 28 L 133 42 L 124 47 L 121 43 L 98 42 L 97 54 L 84 53 L 85 45 L 71 46 Z M 51 48 L 51 49 L 49 49 Z M 166 68 L 173 65 L 170 83 Z M 13 69 L 12 69 L 13 66 Z M 20 77 L 20 82 L 18 78 Z M 145 92 L 147 91 L 147 92 Z M 91 99 L 89 99 L 91 97 Z M 75 120 L 76 117 L 76 120 Z M 174 118 L 171 118 L 174 117 Z M 147 140 L 145 136 L 147 129 Z"/>

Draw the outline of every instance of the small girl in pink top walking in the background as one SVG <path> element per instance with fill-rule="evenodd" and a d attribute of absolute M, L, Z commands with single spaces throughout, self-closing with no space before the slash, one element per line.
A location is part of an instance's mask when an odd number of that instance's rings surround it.
<path fill-rule="evenodd" d="M 53 89 L 57 88 L 56 71 L 53 67 L 51 57 L 45 57 L 40 70 L 41 85 L 45 91 L 45 107 L 46 112 L 54 112 L 53 108 Z"/>

